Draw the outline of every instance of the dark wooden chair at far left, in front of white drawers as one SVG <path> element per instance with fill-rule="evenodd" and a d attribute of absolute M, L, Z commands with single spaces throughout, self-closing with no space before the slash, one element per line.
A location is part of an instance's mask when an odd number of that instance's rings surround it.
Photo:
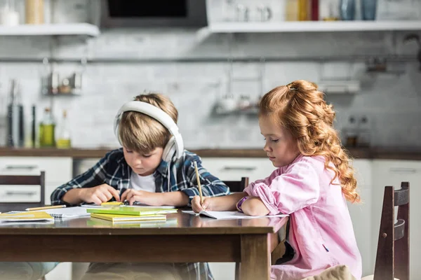
<path fill-rule="evenodd" d="M 40 186 L 41 192 L 39 200 L 36 202 L 0 202 L 0 211 L 10 211 L 10 210 L 25 210 L 26 208 L 31 207 L 41 207 L 45 204 L 45 172 L 42 171 L 39 175 L 0 175 L 0 186 L 1 185 L 15 185 L 16 192 L 18 193 L 18 185 L 32 185 Z"/>

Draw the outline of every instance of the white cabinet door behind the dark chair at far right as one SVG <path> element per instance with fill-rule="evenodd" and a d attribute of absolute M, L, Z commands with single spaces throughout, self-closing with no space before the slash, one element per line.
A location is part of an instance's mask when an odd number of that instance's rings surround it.
<path fill-rule="evenodd" d="M 377 239 L 382 214 L 383 194 L 385 186 L 399 189 L 402 181 L 410 183 L 410 279 L 421 279 L 421 205 L 417 198 L 421 197 L 421 162 L 405 160 L 375 160 L 373 188 L 373 254 L 377 252 Z M 395 211 L 395 217 L 397 211 Z"/>

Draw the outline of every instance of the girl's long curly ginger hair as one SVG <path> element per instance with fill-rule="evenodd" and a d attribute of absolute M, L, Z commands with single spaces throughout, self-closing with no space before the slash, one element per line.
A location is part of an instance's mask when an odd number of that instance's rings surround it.
<path fill-rule="evenodd" d="M 326 104 L 323 92 L 307 80 L 295 80 L 267 92 L 259 104 L 259 116 L 285 127 L 297 139 L 302 155 L 323 155 L 325 167 L 335 172 L 342 193 L 350 202 L 359 202 L 354 169 L 342 149 L 338 132 L 333 128 L 335 111 Z M 330 167 L 332 162 L 334 167 Z"/>

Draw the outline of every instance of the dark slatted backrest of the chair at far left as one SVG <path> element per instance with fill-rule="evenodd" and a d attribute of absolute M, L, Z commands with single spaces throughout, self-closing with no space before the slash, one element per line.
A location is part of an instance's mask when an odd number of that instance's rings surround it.
<path fill-rule="evenodd" d="M 41 206 L 45 203 L 45 172 L 41 171 L 39 175 L 0 175 L 0 185 L 32 185 L 41 187 L 41 197 L 39 202 L 35 202 Z M 1 204 L 25 204 L 21 202 L 1 202 Z M 34 204 L 34 202 L 27 202 L 27 204 Z"/>

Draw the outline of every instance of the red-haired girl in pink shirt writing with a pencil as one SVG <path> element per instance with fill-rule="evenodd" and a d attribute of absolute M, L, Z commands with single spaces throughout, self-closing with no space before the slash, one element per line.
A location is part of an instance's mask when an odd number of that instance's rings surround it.
<path fill-rule="evenodd" d="M 361 279 L 361 255 L 346 204 L 359 202 L 359 195 L 334 119 L 333 107 L 314 83 L 295 80 L 275 87 L 260 101 L 259 126 L 264 151 L 278 169 L 243 193 L 207 197 L 202 205 L 199 197 L 192 200 L 196 212 L 289 214 L 286 248 L 293 258 L 272 265 L 272 279 L 303 279 L 335 265 L 347 265 Z"/>

